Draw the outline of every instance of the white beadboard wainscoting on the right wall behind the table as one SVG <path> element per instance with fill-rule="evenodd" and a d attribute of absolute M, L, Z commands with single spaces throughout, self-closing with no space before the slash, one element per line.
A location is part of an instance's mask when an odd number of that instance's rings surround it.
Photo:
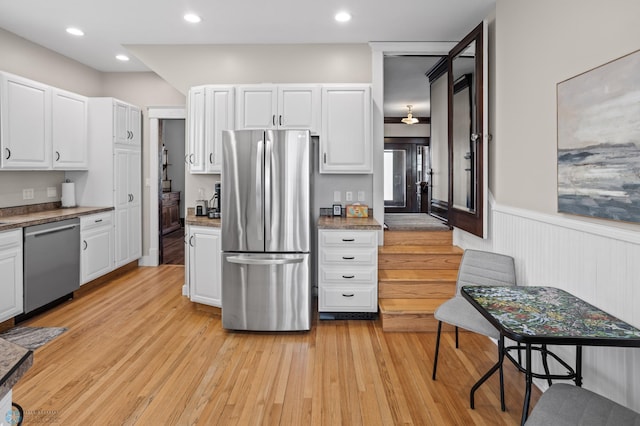
<path fill-rule="evenodd" d="M 456 230 L 454 244 L 511 255 L 518 285 L 562 288 L 640 328 L 640 233 L 493 203 L 490 227 L 487 240 Z M 573 347 L 552 350 L 574 365 Z M 640 348 L 584 347 L 583 379 L 640 411 Z"/>

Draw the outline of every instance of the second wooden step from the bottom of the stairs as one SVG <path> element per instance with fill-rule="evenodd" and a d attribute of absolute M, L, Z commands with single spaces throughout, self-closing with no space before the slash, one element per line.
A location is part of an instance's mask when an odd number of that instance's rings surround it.
<path fill-rule="evenodd" d="M 383 269 L 378 271 L 380 299 L 448 299 L 456 292 L 455 269 Z"/>

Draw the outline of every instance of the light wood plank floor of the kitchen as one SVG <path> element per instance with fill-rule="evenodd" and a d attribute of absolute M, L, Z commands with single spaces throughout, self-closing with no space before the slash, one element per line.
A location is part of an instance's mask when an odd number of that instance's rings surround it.
<path fill-rule="evenodd" d="M 469 389 L 496 346 L 378 321 L 318 321 L 308 333 L 241 333 L 181 296 L 184 269 L 138 268 L 29 321 L 69 330 L 35 351 L 14 388 L 24 425 L 515 425 L 524 378 L 505 368 Z M 539 397 L 535 390 L 532 403 Z"/>

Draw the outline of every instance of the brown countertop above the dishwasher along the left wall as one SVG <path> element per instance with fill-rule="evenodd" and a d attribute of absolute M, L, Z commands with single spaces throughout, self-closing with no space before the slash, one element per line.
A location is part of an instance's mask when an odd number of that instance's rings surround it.
<path fill-rule="evenodd" d="M 79 216 L 113 210 L 113 207 L 52 207 L 48 210 L 33 211 L 29 206 L 0 209 L 0 232 L 25 226 L 59 222 Z"/>

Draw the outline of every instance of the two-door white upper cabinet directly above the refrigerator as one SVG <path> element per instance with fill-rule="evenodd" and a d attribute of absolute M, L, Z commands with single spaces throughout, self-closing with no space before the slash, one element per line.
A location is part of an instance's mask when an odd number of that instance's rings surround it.
<path fill-rule="evenodd" d="M 240 86 L 237 94 L 238 129 L 320 130 L 320 86 Z"/>

